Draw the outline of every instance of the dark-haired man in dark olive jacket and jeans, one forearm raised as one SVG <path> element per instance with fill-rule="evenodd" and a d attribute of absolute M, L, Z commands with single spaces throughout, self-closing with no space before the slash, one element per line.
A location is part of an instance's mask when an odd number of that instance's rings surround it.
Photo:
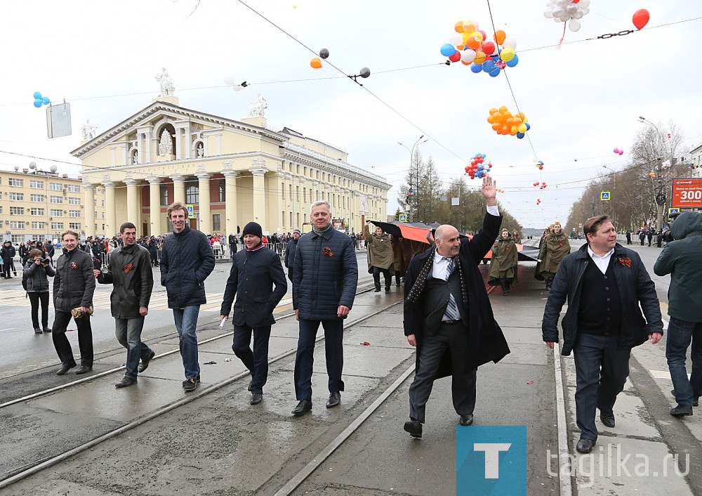
<path fill-rule="evenodd" d="M 114 386 L 124 388 L 136 384 L 137 372 L 144 372 L 154 358 L 154 351 L 141 341 L 144 318 L 154 288 L 149 251 L 136 242 L 136 226 L 125 222 L 119 228 L 124 246 L 110 255 L 107 272 L 95 270 L 100 284 L 112 284 L 110 310 L 114 317 L 114 334 L 127 348 L 124 378 Z M 141 366 L 139 359 L 141 358 Z"/>

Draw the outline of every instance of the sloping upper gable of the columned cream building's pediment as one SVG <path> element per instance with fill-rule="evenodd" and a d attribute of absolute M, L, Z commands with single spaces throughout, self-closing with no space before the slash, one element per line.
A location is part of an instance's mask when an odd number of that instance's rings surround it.
<path fill-rule="evenodd" d="M 264 127 L 253 126 L 245 122 L 239 122 L 226 117 L 198 112 L 185 107 L 173 105 L 171 103 L 156 101 L 145 107 L 143 110 L 127 117 L 124 121 L 113 126 L 107 131 L 95 136 L 90 141 L 86 141 L 79 148 L 71 151 L 71 155 L 77 158 L 85 158 L 97 150 L 111 145 L 112 143 L 128 143 L 134 141 L 138 132 L 145 129 L 159 129 L 161 124 L 169 123 L 174 127 L 189 126 L 190 131 L 207 133 L 208 131 L 232 131 L 244 132 L 258 135 L 280 143 L 288 141 L 288 137 Z"/>

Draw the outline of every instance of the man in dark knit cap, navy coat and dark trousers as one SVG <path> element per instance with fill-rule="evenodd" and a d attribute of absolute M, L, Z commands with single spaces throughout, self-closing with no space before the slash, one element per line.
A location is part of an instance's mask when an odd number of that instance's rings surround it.
<path fill-rule="evenodd" d="M 263 385 L 268 377 L 270 326 L 275 323 L 273 310 L 288 289 L 280 257 L 263 246 L 262 237 L 258 223 L 249 222 L 244 226 L 244 249 L 234 254 L 220 310 L 220 320 L 225 320 L 234 295 L 238 294 L 232 320 L 232 350 L 251 372 L 251 405 L 263 400 Z M 249 347 L 252 332 L 253 351 Z"/>

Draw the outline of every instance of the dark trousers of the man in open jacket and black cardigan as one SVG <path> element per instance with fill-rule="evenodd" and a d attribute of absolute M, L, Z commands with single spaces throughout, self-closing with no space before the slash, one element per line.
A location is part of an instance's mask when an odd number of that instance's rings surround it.
<path fill-rule="evenodd" d="M 575 408 L 581 438 L 597 440 L 595 413 L 609 413 L 629 377 L 631 348 L 618 349 L 618 336 L 579 334 L 573 348 Z"/>

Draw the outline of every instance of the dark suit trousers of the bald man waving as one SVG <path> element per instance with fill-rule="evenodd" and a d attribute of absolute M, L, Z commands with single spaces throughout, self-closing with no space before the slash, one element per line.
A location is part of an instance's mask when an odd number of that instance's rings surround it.
<path fill-rule="evenodd" d="M 434 379 L 446 348 L 451 353 L 451 397 L 458 415 L 468 415 L 475 409 L 475 369 L 468 369 L 468 329 L 462 322 L 441 324 L 435 334 L 424 338 L 419 354 L 419 369 L 409 386 L 409 416 L 424 423 L 425 410 L 432 393 Z"/>

